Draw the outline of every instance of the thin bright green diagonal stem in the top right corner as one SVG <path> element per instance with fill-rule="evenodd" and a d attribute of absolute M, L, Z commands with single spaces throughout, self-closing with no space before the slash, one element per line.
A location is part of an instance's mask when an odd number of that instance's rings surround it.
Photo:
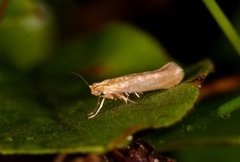
<path fill-rule="evenodd" d="M 240 38 L 231 22 L 215 0 L 203 0 L 203 2 L 240 56 Z"/>

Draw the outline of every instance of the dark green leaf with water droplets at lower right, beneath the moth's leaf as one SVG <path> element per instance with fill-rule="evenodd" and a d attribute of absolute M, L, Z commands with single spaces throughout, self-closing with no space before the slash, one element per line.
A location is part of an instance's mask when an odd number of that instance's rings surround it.
<path fill-rule="evenodd" d="M 218 95 L 200 102 L 196 110 L 187 119 L 174 127 L 159 130 L 145 136 L 160 151 L 178 151 L 182 149 L 240 146 L 240 111 L 232 111 L 235 93 Z M 234 102 L 233 102 L 234 101 Z M 231 103 L 228 107 L 221 107 L 224 103 Z M 234 105 L 233 104 L 233 105 Z M 220 107 L 220 109 L 219 109 Z M 235 106 L 233 106 L 235 108 Z M 221 113 L 221 118 L 219 116 Z"/>

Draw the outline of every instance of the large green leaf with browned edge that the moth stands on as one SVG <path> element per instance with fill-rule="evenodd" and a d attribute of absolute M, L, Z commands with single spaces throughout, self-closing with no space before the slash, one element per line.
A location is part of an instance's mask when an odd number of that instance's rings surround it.
<path fill-rule="evenodd" d="M 57 104 L 43 102 L 41 88 L 21 79 L 21 75 L 20 79 L 15 76 L 8 71 L 0 73 L 2 154 L 103 153 L 124 147 L 135 132 L 166 128 L 182 120 L 199 95 L 195 83 L 184 82 L 146 93 L 135 104 L 108 100 L 101 113 L 89 120 L 86 114 L 96 105 L 94 97 Z"/>

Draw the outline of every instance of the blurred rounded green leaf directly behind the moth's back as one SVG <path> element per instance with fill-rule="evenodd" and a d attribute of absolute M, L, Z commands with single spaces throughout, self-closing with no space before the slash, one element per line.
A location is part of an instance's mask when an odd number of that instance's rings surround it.
<path fill-rule="evenodd" d="M 128 24 L 111 23 L 59 48 L 45 65 L 45 73 L 61 75 L 71 70 L 103 78 L 157 69 L 169 60 L 166 50 L 149 34 Z"/>

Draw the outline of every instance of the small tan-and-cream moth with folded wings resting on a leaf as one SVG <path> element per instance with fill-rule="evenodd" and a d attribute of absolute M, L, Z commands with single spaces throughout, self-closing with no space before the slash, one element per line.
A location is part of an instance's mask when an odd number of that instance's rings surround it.
<path fill-rule="evenodd" d="M 91 93 L 99 96 L 96 110 L 88 114 L 88 118 L 94 118 L 103 106 L 106 98 L 122 99 L 126 103 L 130 100 L 129 94 L 140 97 L 142 92 L 168 89 L 179 84 L 184 77 L 183 69 L 175 62 L 170 62 L 162 68 L 154 71 L 135 73 L 113 79 L 107 79 L 90 85 Z"/>

